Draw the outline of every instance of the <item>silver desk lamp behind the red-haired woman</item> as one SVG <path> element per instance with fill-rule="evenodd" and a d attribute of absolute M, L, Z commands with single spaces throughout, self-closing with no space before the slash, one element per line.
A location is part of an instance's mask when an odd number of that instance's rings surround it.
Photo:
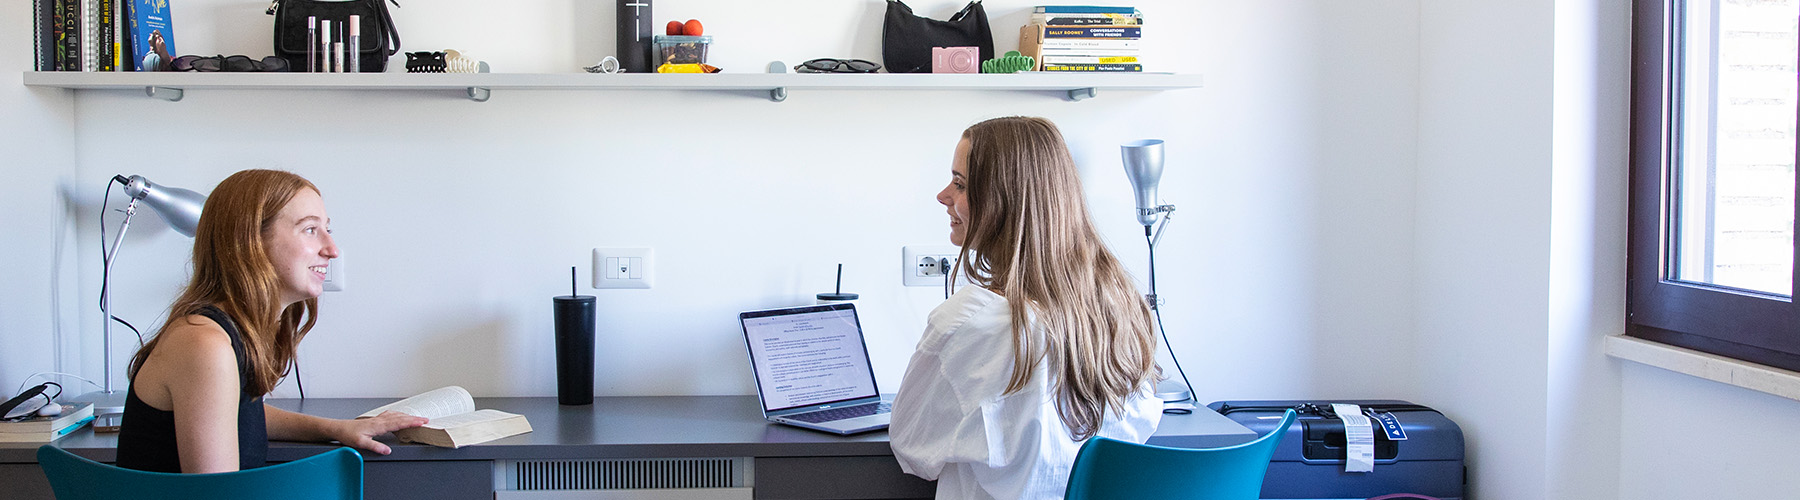
<path fill-rule="evenodd" d="M 169 221 L 169 227 L 182 236 L 193 237 L 194 228 L 200 227 L 200 209 L 205 207 L 207 196 L 193 192 L 180 187 L 157 185 L 144 176 L 113 176 L 112 182 L 124 185 L 124 194 L 131 200 L 124 205 L 124 221 L 119 223 L 119 236 L 113 237 L 112 250 L 101 254 L 104 266 L 101 268 L 101 315 L 106 318 L 101 322 L 101 338 L 104 345 L 103 367 L 106 369 L 104 385 L 101 390 L 81 394 L 76 401 L 94 401 L 94 414 L 124 414 L 124 390 L 112 388 L 112 295 L 106 293 L 110 288 L 112 263 L 119 257 L 119 243 L 124 241 L 126 228 L 131 228 L 131 216 L 137 212 L 137 203 L 144 203 L 151 212 L 162 216 Z M 106 183 L 112 189 L 112 182 Z M 104 207 L 101 207 L 104 210 Z M 103 227 L 104 230 L 104 227 Z M 104 239 L 104 237 L 103 237 Z"/>

